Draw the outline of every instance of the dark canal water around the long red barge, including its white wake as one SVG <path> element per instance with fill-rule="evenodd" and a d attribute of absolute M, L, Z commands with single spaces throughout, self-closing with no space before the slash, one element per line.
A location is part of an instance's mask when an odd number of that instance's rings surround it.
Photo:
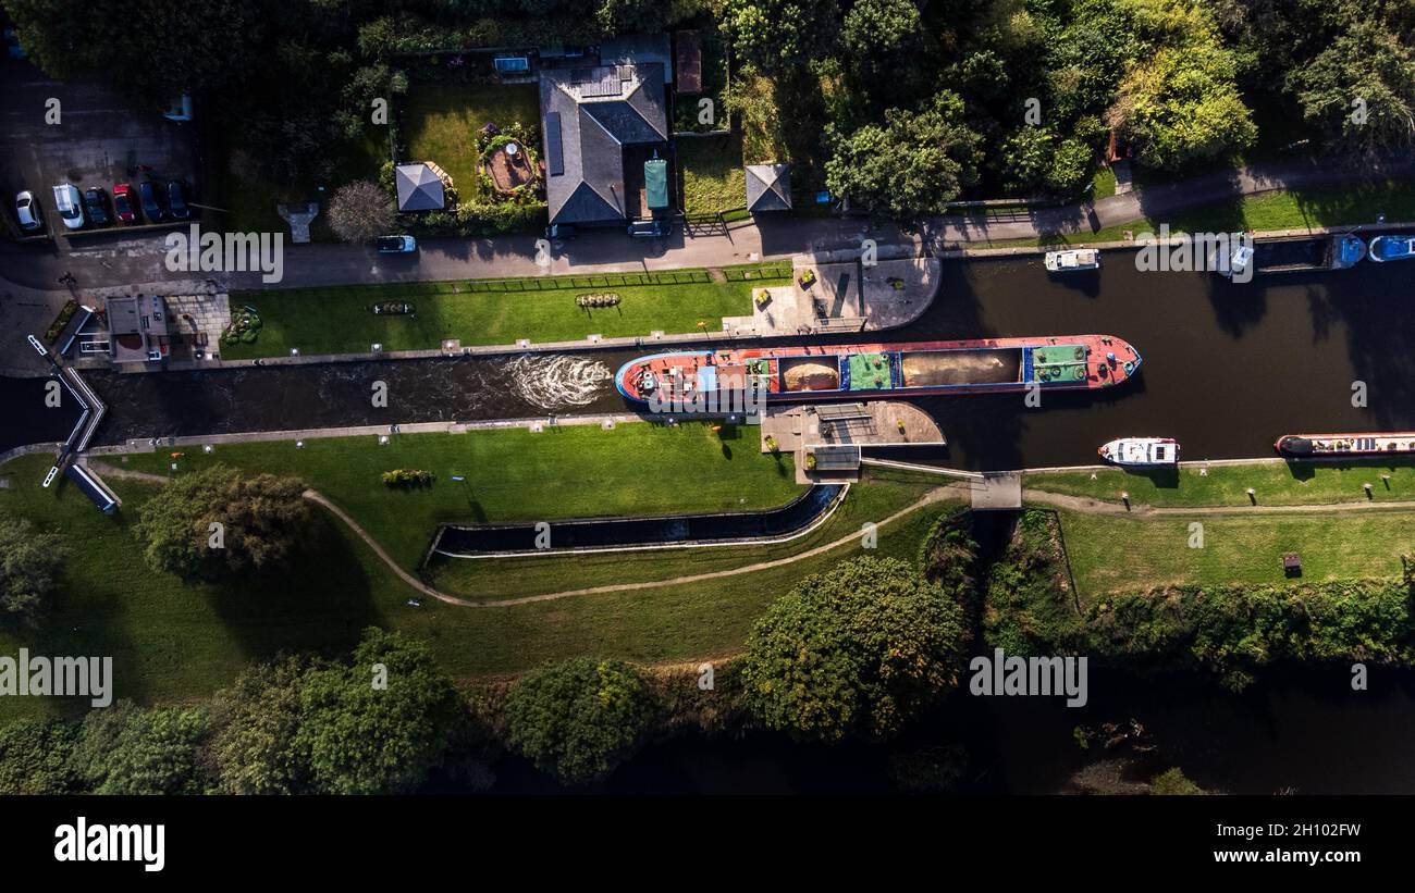
<path fill-rule="evenodd" d="M 1187 459 L 1259 456 L 1271 455 L 1272 442 L 1285 432 L 1415 427 L 1409 273 L 1401 264 L 1364 263 L 1232 284 L 1211 273 L 1142 273 L 1132 252 L 1107 253 L 1098 273 L 1073 278 L 1047 277 L 1034 257 L 949 260 L 925 317 L 886 338 L 1105 332 L 1145 356 L 1140 373 L 1115 390 L 1044 393 L 1039 408 L 1026 407 L 1022 394 L 916 400 L 948 438 L 949 465 L 1090 463 L 1099 444 L 1122 435 L 1174 437 Z M 630 407 L 610 376 L 635 353 L 88 373 L 88 379 L 112 410 L 99 441 L 120 442 L 624 411 Z M 389 386 L 386 408 L 372 404 L 375 382 Z M 1353 404 L 1353 387 L 1364 391 L 1364 407 Z M 24 427 L 34 421 L 21 414 Z"/>

